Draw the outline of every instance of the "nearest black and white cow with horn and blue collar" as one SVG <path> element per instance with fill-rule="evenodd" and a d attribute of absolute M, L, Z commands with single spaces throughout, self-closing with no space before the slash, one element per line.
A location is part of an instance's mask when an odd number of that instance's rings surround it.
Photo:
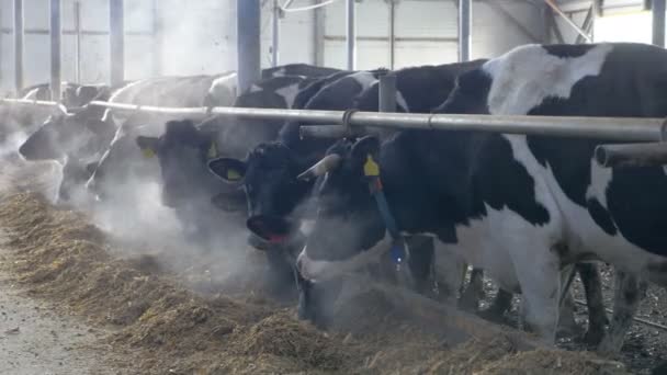
<path fill-rule="evenodd" d="M 667 52 L 647 45 L 522 46 L 460 76 L 439 112 L 664 117 L 665 63 Z M 502 288 L 521 292 L 527 321 L 550 342 L 563 266 L 613 264 L 623 288 L 601 349 L 618 351 L 641 280 L 667 284 L 667 175 L 598 167 L 601 141 L 404 130 L 382 147 L 374 137 L 341 143 L 328 152 L 298 269 L 326 280 L 392 242 L 364 181 L 364 166 L 376 162 L 399 228 L 433 235 Z"/>

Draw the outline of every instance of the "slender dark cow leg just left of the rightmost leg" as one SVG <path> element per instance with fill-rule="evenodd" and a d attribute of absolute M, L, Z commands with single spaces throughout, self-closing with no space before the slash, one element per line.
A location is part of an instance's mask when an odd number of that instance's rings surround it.
<path fill-rule="evenodd" d="M 604 326 L 609 323 L 602 300 L 600 270 L 595 263 L 577 263 L 577 271 L 584 284 L 588 306 L 588 330 L 584 340 L 591 345 L 597 345 L 604 336 Z"/>

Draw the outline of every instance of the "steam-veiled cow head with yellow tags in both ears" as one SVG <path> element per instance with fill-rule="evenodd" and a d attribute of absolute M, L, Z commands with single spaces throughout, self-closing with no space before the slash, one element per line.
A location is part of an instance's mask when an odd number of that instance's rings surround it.
<path fill-rule="evenodd" d="M 144 157 L 155 157 L 160 164 L 162 204 L 177 207 L 192 197 L 219 193 L 222 184 L 206 167 L 207 160 L 217 156 L 216 136 L 186 120 L 168 122 L 159 137 L 136 137 Z"/>

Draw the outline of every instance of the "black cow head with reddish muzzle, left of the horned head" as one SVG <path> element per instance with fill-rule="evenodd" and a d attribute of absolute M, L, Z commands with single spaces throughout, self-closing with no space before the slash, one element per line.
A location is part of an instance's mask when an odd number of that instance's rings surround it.
<path fill-rule="evenodd" d="M 310 190 L 310 182 L 297 179 L 307 167 L 308 162 L 282 143 L 259 145 L 246 161 L 219 158 L 208 162 L 211 171 L 224 181 L 244 185 L 248 229 L 274 245 L 296 235 L 298 225 L 289 216 Z"/>

